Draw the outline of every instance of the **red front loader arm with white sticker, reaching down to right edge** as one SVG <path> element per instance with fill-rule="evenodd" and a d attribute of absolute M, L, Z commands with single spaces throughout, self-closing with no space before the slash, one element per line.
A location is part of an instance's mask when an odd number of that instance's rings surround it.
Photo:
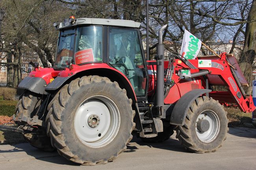
<path fill-rule="evenodd" d="M 189 60 L 189 62 L 191 62 L 191 64 L 193 64 L 198 69 L 191 69 L 182 61 L 176 60 L 176 62 L 174 62 L 176 72 L 178 72 L 179 69 L 189 69 L 191 71 L 191 74 L 195 74 L 199 71 L 202 72 L 204 70 L 207 70 L 209 74 L 206 74 L 204 77 L 201 76 L 204 88 L 206 88 L 208 85 L 215 85 L 226 86 L 228 90 L 212 91 L 209 93 L 210 97 L 215 100 L 219 100 L 221 104 L 235 103 L 243 112 L 252 112 L 255 110 L 255 106 L 252 102 L 252 97 L 250 95 L 243 95 L 243 87 L 238 85 L 241 83 L 236 81 L 239 79 L 235 79 L 234 76 L 236 76 L 236 73 L 234 71 L 232 73 L 228 61 L 226 60 L 226 53 L 222 53 L 221 58 L 211 59 L 210 57 L 200 57 L 200 59 Z M 236 72 L 239 71 L 241 71 L 240 68 L 237 68 Z M 245 80 L 244 77 L 241 77 L 243 76 L 242 73 L 239 76 L 240 79 Z M 209 84 L 207 86 L 206 80 L 204 79 L 208 79 Z M 174 82 L 178 83 L 179 81 L 180 77 L 178 75 L 174 75 Z"/>

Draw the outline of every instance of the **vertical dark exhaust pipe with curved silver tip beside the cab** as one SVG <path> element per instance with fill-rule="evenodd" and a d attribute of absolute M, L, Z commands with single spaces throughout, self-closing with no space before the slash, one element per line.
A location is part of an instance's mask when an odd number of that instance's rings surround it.
<path fill-rule="evenodd" d="M 164 103 L 164 45 L 163 45 L 163 30 L 167 27 L 167 24 L 161 26 L 158 31 L 158 45 L 156 46 L 156 59 L 158 64 L 156 66 L 156 106 L 161 108 Z M 161 109 L 160 109 L 161 115 Z"/>

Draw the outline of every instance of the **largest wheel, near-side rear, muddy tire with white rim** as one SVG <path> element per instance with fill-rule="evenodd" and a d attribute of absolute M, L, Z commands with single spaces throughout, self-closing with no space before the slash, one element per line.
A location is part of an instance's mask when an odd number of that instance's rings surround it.
<path fill-rule="evenodd" d="M 117 82 L 84 76 L 57 95 L 48 113 L 48 134 L 61 156 L 83 165 L 105 164 L 126 149 L 135 111 Z"/>

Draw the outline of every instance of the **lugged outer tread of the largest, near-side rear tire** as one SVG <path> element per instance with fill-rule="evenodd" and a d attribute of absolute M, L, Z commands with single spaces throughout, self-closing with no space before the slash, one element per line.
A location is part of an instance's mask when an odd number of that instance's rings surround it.
<path fill-rule="evenodd" d="M 75 163 L 79 163 L 82 165 L 96 165 L 96 164 L 106 164 L 108 161 L 113 161 L 117 158 L 118 154 L 124 152 L 126 149 L 126 145 L 124 148 L 122 148 L 116 155 L 110 156 L 106 160 L 100 160 L 97 162 L 92 162 L 90 160 L 81 160 L 78 156 L 74 155 L 70 152 L 69 147 L 65 143 L 65 138 L 61 133 L 61 129 L 59 128 L 62 124 L 61 121 L 61 111 L 65 109 L 65 105 L 67 104 L 68 99 L 71 97 L 71 95 L 74 93 L 74 91 L 78 90 L 79 87 L 85 86 L 86 84 L 90 83 L 105 83 L 105 84 L 112 84 L 115 88 L 119 88 L 119 84 L 117 82 L 111 82 L 107 77 L 99 77 L 99 76 L 84 76 L 75 80 L 72 80 L 69 85 L 63 86 L 63 88 L 58 93 L 58 97 L 54 97 L 54 101 L 51 103 L 50 108 L 52 108 L 52 112 L 50 113 L 50 130 L 49 135 L 51 137 L 52 145 L 54 145 L 58 153 L 65 157 L 66 159 L 73 161 Z M 106 86 L 105 86 L 106 87 Z M 126 95 L 125 89 L 120 89 L 120 92 Z M 127 99 L 129 105 L 132 108 L 132 101 L 130 99 Z M 131 121 L 133 121 L 133 117 L 135 115 L 135 111 L 131 110 Z M 135 128 L 135 123 L 132 122 L 132 128 L 130 129 L 130 133 Z M 132 135 L 127 139 L 126 144 L 130 142 L 132 139 Z"/>

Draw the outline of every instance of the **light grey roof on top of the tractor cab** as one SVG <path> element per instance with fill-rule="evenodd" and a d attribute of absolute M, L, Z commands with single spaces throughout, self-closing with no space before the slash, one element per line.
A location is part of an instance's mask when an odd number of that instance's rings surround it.
<path fill-rule="evenodd" d="M 130 27 L 139 28 L 141 23 L 132 20 L 114 20 L 114 19 L 103 19 L 103 18 L 77 18 L 75 24 L 65 26 L 65 22 L 59 23 L 58 29 L 65 27 L 77 26 L 77 25 L 106 25 L 106 26 L 118 26 L 118 27 Z"/>

